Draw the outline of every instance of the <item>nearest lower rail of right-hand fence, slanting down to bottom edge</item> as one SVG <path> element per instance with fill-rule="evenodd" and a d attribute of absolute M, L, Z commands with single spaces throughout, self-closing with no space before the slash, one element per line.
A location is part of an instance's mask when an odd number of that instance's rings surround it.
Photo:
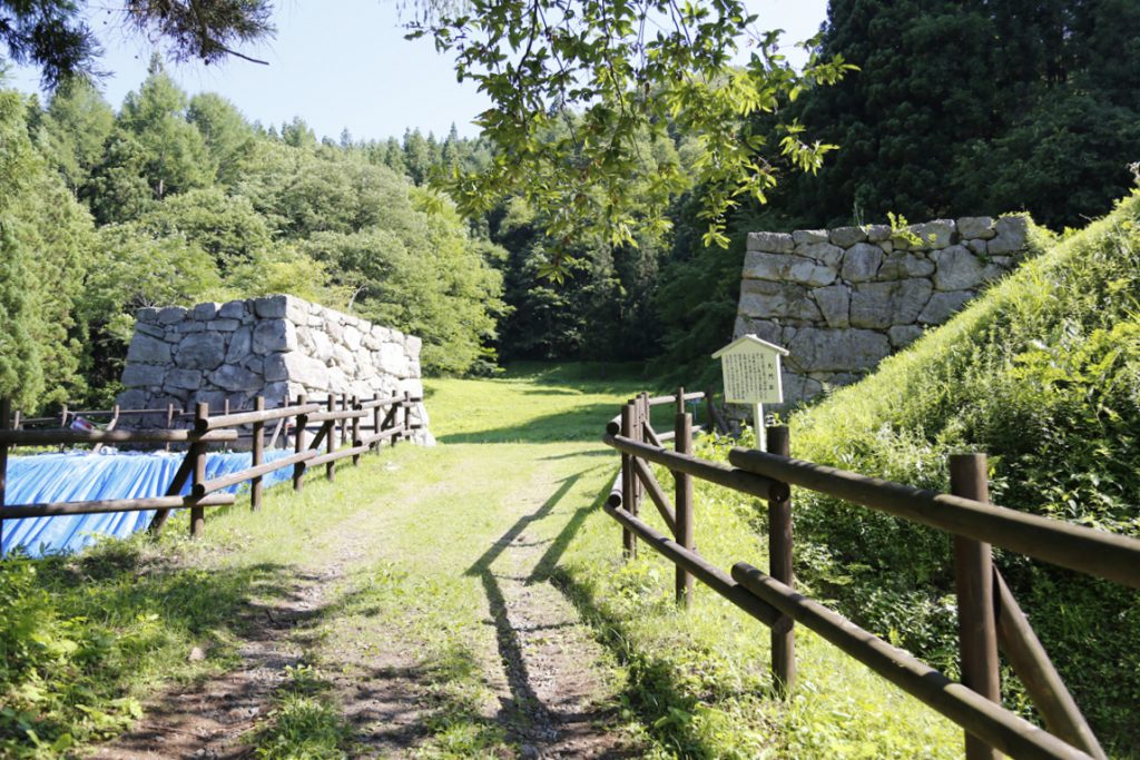
<path fill-rule="evenodd" d="M 913 655 L 895 648 L 846 618 L 797 594 L 752 565 L 740 562 L 732 578 L 749 593 L 831 641 L 904 692 L 918 697 L 1001 752 L 1029 760 L 1089 759 L 1042 728 L 972 689 L 950 680 Z"/>

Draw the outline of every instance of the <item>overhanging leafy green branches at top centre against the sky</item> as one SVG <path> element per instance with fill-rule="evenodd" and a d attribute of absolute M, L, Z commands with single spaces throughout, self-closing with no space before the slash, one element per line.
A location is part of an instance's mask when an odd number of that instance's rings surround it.
<path fill-rule="evenodd" d="M 423 3 L 409 36 L 453 52 L 459 80 L 477 82 L 492 103 L 477 123 L 495 158 L 454 170 L 442 186 L 466 213 L 522 197 L 561 244 L 545 268 L 555 279 L 585 230 L 601 223 L 612 242 L 634 245 L 636 229 L 667 227 L 668 204 L 691 183 L 703 189 L 706 244 L 727 245 L 725 214 L 742 197 L 763 202 L 776 180 L 764 155 L 774 146 L 749 116 L 776 113 L 853 68 L 812 54 L 797 72 L 779 52 L 779 32 L 758 34 L 755 22 L 735 0 Z M 741 40 L 755 50 L 736 66 Z M 675 158 L 632 182 L 646 136 L 676 133 L 697 138 L 692 165 Z M 807 141 L 796 122 L 782 125 L 779 153 L 801 170 L 817 169 L 833 148 Z"/>

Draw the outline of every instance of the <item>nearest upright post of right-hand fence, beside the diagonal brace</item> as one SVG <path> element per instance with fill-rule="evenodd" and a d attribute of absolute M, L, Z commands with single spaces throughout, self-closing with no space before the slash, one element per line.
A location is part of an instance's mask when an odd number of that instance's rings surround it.
<path fill-rule="evenodd" d="M 975 501 L 990 501 L 986 455 L 950 457 L 950 490 Z M 958 590 L 958 643 L 962 684 L 1001 704 L 997 630 L 994 621 L 993 556 L 988 544 L 954 537 L 954 586 Z M 967 760 L 996 760 L 992 746 L 966 733 Z"/>

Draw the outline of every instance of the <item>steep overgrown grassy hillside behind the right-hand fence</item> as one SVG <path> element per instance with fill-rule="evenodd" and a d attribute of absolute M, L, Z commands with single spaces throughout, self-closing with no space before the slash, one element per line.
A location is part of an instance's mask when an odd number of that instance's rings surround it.
<path fill-rule="evenodd" d="M 936 489 L 990 455 L 992 498 L 1140 536 L 1140 194 L 1060 239 L 951 322 L 791 420 L 795 456 Z M 953 669 L 950 541 L 799 498 L 800 566 L 872 629 Z M 1140 595 L 997 562 L 1104 741 L 1140 746 Z M 1008 687 L 1015 703 L 1018 687 Z"/>

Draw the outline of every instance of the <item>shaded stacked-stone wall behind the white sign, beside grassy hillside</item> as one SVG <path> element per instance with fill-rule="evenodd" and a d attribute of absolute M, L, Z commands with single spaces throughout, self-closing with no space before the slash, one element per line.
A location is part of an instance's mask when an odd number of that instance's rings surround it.
<path fill-rule="evenodd" d="M 784 398 L 846 385 L 942 325 L 1013 269 L 1026 218 L 968 216 L 914 224 L 748 236 L 734 337 L 788 348 Z"/>

